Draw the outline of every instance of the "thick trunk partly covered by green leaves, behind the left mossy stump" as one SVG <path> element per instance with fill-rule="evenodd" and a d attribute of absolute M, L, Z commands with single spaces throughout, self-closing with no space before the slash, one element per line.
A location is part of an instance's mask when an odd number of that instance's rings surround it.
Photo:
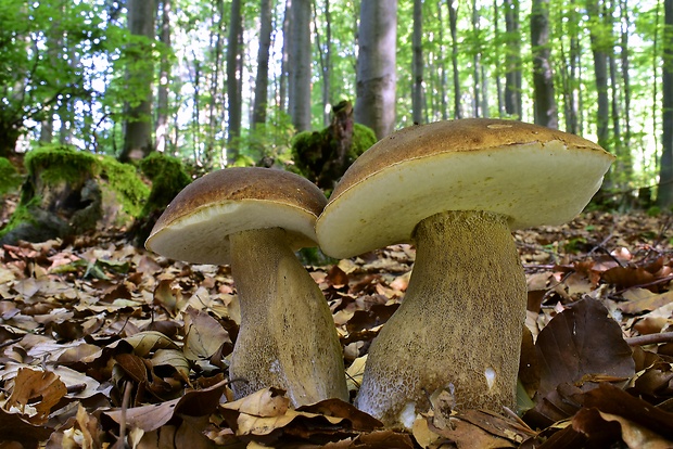
<path fill-rule="evenodd" d="M 156 0 L 128 0 L 128 27 L 132 35 L 154 40 L 154 12 Z M 149 49 L 148 49 L 149 50 Z M 138 105 L 125 105 L 124 149 L 119 161 L 141 159 L 153 149 L 152 145 L 152 85 L 154 70 L 145 51 L 136 51 L 137 59 L 145 57 L 144 64 L 132 63 L 128 77 L 144 92 Z"/>

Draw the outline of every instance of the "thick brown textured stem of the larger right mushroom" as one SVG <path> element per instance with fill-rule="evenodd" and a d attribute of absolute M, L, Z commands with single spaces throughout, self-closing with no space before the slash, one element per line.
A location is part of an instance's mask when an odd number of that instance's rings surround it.
<path fill-rule="evenodd" d="M 457 409 L 512 407 L 526 284 L 506 217 L 442 213 L 414 240 L 409 286 L 371 345 L 356 406 L 397 427 L 442 390 Z"/>

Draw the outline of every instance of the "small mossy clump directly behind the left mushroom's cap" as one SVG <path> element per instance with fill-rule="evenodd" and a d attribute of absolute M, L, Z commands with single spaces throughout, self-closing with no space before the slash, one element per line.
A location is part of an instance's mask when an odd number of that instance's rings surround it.
<path fill-rule="evenodd" d="M 141 217 L 166 207 L 191 182 L 182 163 L 163 153 L 152 153 L 140 161 L 140 170 L 152 181 L 152 190 L 142 208 Z"/>

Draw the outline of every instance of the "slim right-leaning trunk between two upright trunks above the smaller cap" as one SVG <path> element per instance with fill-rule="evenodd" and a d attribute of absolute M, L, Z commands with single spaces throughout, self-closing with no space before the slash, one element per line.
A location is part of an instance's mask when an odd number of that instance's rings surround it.
<path fill-rule="evenodd" d="M 252 127 L 266 123 L 266 106 L 269 89 L 269 49 L 271 47 L 271 0 L 259 2 L 259 48 L 257 50 L 257 78 L 253 104 Z"/>

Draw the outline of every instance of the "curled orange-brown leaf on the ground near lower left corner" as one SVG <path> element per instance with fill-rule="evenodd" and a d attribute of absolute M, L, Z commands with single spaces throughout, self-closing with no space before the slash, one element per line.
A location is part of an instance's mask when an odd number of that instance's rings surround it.
<path fill-rule="evenodd" d="M 31 399 L 39 398 L 40 400 L 35 403 L 37 411 L 35 422 L 41 424 L 47 420 L 51 408 L 59 403 L 66 394 L 67 388 L 56 374 L 22 368 L 14 379 L 14 389 L 7 407 L 24 408 L 31 402 Z"/>

